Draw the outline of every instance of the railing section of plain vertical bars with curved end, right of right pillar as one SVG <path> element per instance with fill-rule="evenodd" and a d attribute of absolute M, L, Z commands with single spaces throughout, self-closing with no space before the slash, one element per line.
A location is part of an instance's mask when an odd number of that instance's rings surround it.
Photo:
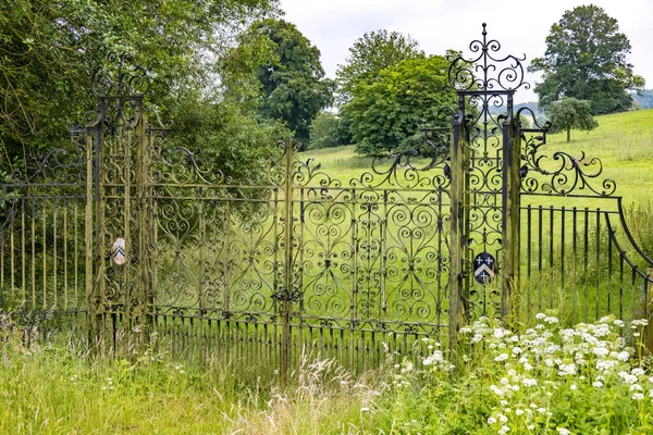
<path fill-rule="evenodd" d="M 630 235 L 619 197 L 522 194 L 521 200 L 525 322 L 545 310 L 567 324 L 648 313 L 650 263 Z"/>

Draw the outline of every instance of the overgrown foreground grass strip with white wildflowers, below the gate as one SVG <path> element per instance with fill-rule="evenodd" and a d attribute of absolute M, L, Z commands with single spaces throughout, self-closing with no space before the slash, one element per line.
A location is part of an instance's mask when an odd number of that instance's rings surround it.
<path fill-rule="evenodd" d="M 424 369 L 406 359 L 353 378 L 331 360 L 305 357 L 287 380 L 262 380 L 259 368 L 220 361 L 26 346 L 4 316 L 0 433 L 650 433 L 644 324 L 630 330 L 607 316 L 563 330 L 552 315 L 538 318 L 519 333 L 481 319 L 463 331 L 453 363 L 431 341 Z"/>

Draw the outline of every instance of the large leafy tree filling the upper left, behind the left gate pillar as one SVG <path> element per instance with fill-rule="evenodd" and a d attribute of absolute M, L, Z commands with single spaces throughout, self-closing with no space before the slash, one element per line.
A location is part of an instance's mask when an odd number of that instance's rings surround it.
<path fill-rule="evenodd" d="M 214 69 L 243 23 L 273 0 L 13 0 L 0 9 L 0 158 L 20 164 L 70 144 L 67 128 L 93 109 L 93 71 L 130 52 L 156 73 L 147 103 L 164 119 L 190 94 L 211 92 Z M 215 94 L 213 94 L 215 95 Z M 209 98 L 201 101 L 210 102 Z M 193 107 L 195 108 L 195 107 Z"/>

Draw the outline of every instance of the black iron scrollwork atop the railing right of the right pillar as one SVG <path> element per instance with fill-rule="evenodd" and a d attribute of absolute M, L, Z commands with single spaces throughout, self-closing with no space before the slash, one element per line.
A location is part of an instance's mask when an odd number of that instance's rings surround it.
<path fill-rule="evenodd" d="M 590 190 L 594 195 L 607 197 L 614 195 L 617 184 L 612 178 L 600 181 L 602 188 L 591 184 L 591 181 L 599 178 L 603 173 L 603 163 L 599 158 L 587 159 L 584 151 L 576 158 L 565 151 L 556 151 L 552 159 L 541 152 L 542 146 L 546 145 L 546 133 L 551 123 L 546 122 L 540 126 L 535 121 L 534 113 L 529 108 L 521 108 L 517 112 L 517 119 L 522 112 L 528 111 L 531 114 L 535 128 L 520 129 L 521 139 L 525 141 L 521 160 L 525 161 L 521 166 L 521 187 L 529 194 L 541 190 L 544 194 L 569 195 L 575 190 Z M 530 136 L 527 137 L 527 134 Z M 543 165 L 550 163 L 553 169 L 544 169 Z M 545 181 L 539 179 L 537 175 L 528 175 L 530 171 L 544 175 Z"/>

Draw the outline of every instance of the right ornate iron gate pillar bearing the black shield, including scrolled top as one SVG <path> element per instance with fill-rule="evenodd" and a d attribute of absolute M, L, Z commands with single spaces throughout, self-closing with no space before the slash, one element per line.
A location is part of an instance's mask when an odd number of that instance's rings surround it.
<path fill-rule="evenodd" d="M 501 45 L 471 41 L 472 59 L 449 58 L 449 85 L 458 95 L 452 139 L 449 344 L 464 321 L 519 319 L 520 166 L 514 95 L 525 58 L 500 57 Z M 498 284 L 498 285 L 497 285 Z"/>

